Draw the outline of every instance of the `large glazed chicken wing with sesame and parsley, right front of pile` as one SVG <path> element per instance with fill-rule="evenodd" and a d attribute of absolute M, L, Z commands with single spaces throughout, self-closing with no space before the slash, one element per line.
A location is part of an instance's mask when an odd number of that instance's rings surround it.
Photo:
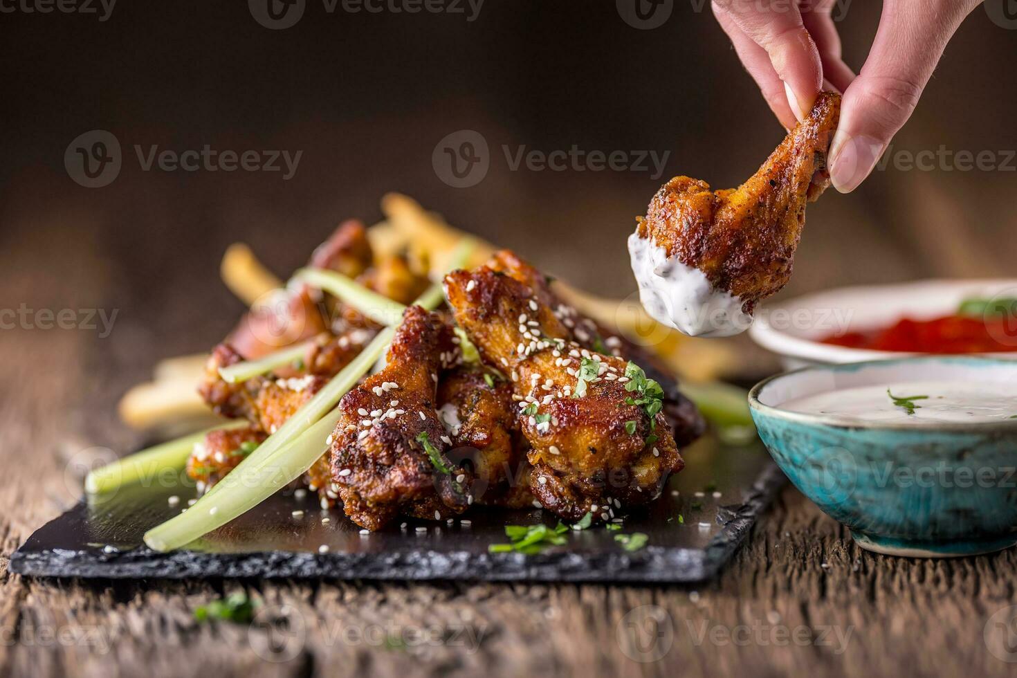
<path fill-rule="evenodd" d="M 483 359 L 511 375 L 531 445 L 530 487 L 545 508 L 610 519 L 658 496 L 681 469 L 659 393 L 631 390 L 625 361 L 569 340 L 539 292 L 482 266 L 450 273 L 445 296 Z"/>

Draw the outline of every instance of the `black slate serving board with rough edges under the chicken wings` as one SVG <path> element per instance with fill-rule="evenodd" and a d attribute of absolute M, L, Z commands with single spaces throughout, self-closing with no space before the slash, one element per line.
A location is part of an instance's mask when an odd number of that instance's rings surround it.
<path fill-rule="evenodd" d="M 11 557 L 10 569 L 100 578 L 700 581 L 734 553 L 784 476 L 758 441 L 723 445 L 707 437 L 682 454 L 685 470 L 647 511 L 625 518 L 620 532 L 603 527 L 570 532 L 567 545 L 535 556 L 489 554 L 487 547 L 507 541 L 505 525 L 557 521 L 539 509 L 481 509 L 464 516 L 469 527 L 459 519 L 453 525 L 409 520 L 405 529 L 397 523 L 361 535 L 341 510 L 320 509 L 311 493 L 303 499 L 277 495 L 187 550 L 157 553 L 141 536 L 194 496 L 192 486 L 174 478 L 159 487 L 126 487 L 107 500 L 78 503 L 32 535 Z M 180 497 L 178 506 L 169 505 L 171 495 Z M 294 516 L 298 509 L 303 515 Z M 328 522 L 321 521 L 325 516 Z M 427 530 L 418 533 L 418 527 Z M 614 537 L 635 532 L 649 535 L 648 546 L 629 553 Z M 319 553 L 321 545 L 327 553 Z"/>

